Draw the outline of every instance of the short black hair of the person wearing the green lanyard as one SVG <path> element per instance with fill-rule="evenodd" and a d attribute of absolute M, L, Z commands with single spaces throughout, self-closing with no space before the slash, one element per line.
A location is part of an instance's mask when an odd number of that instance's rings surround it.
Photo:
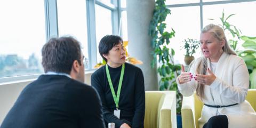
<path fill-rule="evenodd" d="M 108 52 L 117 44 L 122 43 L 123 39 L 120 36 L 116 35 L 106 35 L 104 36 L 99 43 L 99 52 L 101 57 L 107 62 L 108 60 L 103 57 L 103 54 L 108 54 Z"/>

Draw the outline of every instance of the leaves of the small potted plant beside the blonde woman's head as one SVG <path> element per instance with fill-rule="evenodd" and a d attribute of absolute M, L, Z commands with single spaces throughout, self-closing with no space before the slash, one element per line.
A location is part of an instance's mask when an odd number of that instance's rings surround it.
<path fill-rule="evenodd" d="M 183 42 L 183 49 L 186 50 L 186 56 L 193 56 L 194 53 L 196 53 L 196 50 L 198 49 L 199 47 L 199 41 L 197 39 L 190 39 L 190 38 L 187 38 L 187 39 L 184 39 Z"/>

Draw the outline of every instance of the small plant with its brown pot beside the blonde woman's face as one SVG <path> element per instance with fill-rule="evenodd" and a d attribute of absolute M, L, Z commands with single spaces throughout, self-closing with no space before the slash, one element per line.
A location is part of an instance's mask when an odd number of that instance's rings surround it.
<path fill-rule="evenodd" d="M 184 39 L 184 41 L 182 42 L 184 43 L 182 48 L 186 50 L 184 61 L 186 65 L 189 65 L 195 59 L 193 54 L 196 52 L 196 49 L 199 47 L 199 41 L 197 41 L 197 39 L 187 38 L 187 39 Z"/>

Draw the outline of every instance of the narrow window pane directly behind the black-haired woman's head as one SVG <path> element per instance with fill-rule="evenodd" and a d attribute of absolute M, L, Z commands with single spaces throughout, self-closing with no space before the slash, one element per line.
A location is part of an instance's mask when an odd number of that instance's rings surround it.
<path fill-rule="evenodd" d="M 100 5 L 95 5 L 95 27 L 96 27 L 96 42 L 97 42 L 97 62 L 102 62 L 102 57 L 99 54 L 100 39 L 105 35 L 111 35 L 112 32 L 112 17 L 111 10 L 108 10 Z"/>

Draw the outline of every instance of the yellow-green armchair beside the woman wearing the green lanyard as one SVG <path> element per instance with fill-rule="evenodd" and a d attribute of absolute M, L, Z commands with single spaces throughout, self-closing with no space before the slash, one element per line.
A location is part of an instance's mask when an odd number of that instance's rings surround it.
<path fill-rule="evenodd" d="M 177 127 L 175 91 L 146 91 L 145 128 Z"/>

